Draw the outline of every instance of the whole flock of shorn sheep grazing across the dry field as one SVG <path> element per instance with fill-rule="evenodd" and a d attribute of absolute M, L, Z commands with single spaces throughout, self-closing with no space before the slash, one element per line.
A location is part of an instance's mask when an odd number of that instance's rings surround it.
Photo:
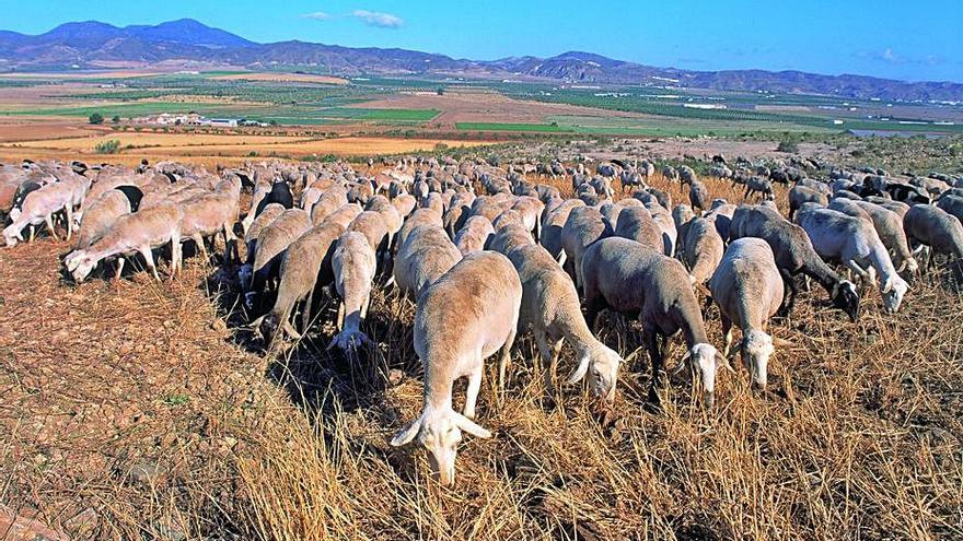
<path fill-rule="evenodd" d="M 689 368 L 712 407 L 717 371 L 732 371 L 733 327 L 752 386 L 766 386 L 775 350 L 767 324 L 792 309 L 799 274 L 819 281 L 855 321 L 870 286 L 887 313 L 898 310 L 909 290 L 900 272 L 917 272 L 916 257 L 928 255 L 932 264 L 933 254 L 945 254 L 959 273 L 960 179 L 813 164 L 769 169 L 742 160 L 733 170 L 721 156 L 715 162 L 711 176 L 743 185 L 744 199 L 758 203 L 712 199 L 695 170 L 663 166 L 659 175 L 687 185 L 689 204 L 673 204 L 649 186 L 657 167 L 648 161 L 587 168 L 405 158 L 380 170 L 369 163 L 367 174 L 345 163 L 259 163 L 212 174 L 170 162 L 136 169 L 24 162 L 0 166 L 0 212 L 8 214 L 8 247 L 25 233 L 33 239 L 40 226 L 56 237 L 62 221 L 73 242 L 63 266 L 76 282 L 108 260 L 120 278 L 137 255 L 160 280 L 161 251 L 173 279 L 183 243 L 207 257 L 208 243 L 213 248 L 221 236 L 223 264 L 239 269 L 252 327 L 269 344 L 308 332 L 323 297 L 336 293 L 329 349 L 355 352 L 370 343 L 363 329 L 372 287 L 397 289 L 416 303 L 425 400 L 392 444 L 417 438 L 450 484 L 462 433 L 490 437 L 475 422 L 484 360 L 500 351 L 501 388 L 519 332 L 532 332 L 547 391 L 567 342 L 577 356 L 569 384 L 585 379 L 608 402 L 624 361 L 593 334 L 600 311 L 638 318 L 653 400 L 664 385 L 669 340 L 681 332 L 686 353 L 676 371 Z M 570 179 L 575 197 L 532 180 L 543 175 Z M 793 221 L 773 203 L 774 183 L 787 185 Z M 631 197 L 616 198 L 613 185 Z M 253 198 L 242 212 L 245 188 Z M 698 302 L 706 286 L 721 314 L 721 353 Z M 459 412 L 452 388 L 461 377 L 468 386 Z"/>

